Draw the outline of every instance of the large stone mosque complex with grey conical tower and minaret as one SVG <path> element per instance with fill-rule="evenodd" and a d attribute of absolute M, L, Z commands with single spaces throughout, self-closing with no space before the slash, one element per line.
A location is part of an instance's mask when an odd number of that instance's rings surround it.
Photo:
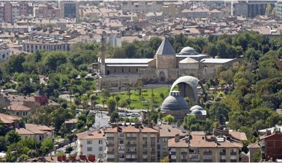
<path fill-rule="evenodd" d="M 103 42 L 101 58 L 93 63 L 93 71 L 98 72 L 97 90 L 133 85 L 138 80 L 143 84 L 172 84 L 179 77 L 187 75 L 200 80 L 209 79 L 215 76 L 221 66 L 228 69 L 239 61 L 237 58 L 208 58 L 208 54 L 199 54 L 192 47 L 184 47 L 179 53 L 175 53 L 166 37 L 153 59 L 105 58 Z"/>

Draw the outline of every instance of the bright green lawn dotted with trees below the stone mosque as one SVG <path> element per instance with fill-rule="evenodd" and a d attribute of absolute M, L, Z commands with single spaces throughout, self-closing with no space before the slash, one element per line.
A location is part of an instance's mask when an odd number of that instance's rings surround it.
<path fill-rule="evenodd" d="M 158 102 L 158 105 L 161 106 L 163 99 L 161 98 L 160 94 L 163 93 L 165 98 L 169 95 L 169 90 L 170 87 L 162 87 L 162 88 L 154 88 L 153 89 L 153 93 L 155 94 L 155 100 Z M 177 87 L 175 87 L 173 90 L 178 90 Z M 151 94 L 152 94 L 152 89 L 147 89 L 147 90 L 142 90 L 142 97 L 144 99 L 150 100 L 151 99 Z M 119 96 L 120 97 L 120 101 L 125 100 L 126 98 L 128 98 L 127 93 L 122 92 L 122 93 L 115 93 L 115 96 Z M 99 99 L 97 100 L 97 103 L 102 104 L 101 99 L 103 98 L 102 95 L 98 95 Z M 109 98 L 112 98 L 109 97 Z M 142 101 L 139 99 L 139 94 L 138 91 L 134 92 L 131 91 L 131 105 L 130 107 L 134 108 L 134 109 L 145 109 L 145 107 L 143 106 Z M 151 105 L 150 105 L 151 107 Z"/>

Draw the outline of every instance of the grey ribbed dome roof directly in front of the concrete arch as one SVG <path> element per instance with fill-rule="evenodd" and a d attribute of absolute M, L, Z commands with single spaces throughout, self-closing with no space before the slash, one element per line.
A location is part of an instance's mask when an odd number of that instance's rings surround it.
<path fill-rule="evenodd" d="M 163 110 L 186 110 L 189 108 L 189 104 L 176 91 L 171 92 L 161 106 Z"/>

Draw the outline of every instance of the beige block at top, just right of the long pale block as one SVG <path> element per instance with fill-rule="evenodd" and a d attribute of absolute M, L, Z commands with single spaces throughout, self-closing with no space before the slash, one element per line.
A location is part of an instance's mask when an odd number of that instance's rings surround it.
<path fill-rule="evenodd" d="M 182 2 L 165 2 L 163 6 L 163 13 L 165 15 L 170 15 L 172 18 L 181 17 L 181 5 Z"/>

